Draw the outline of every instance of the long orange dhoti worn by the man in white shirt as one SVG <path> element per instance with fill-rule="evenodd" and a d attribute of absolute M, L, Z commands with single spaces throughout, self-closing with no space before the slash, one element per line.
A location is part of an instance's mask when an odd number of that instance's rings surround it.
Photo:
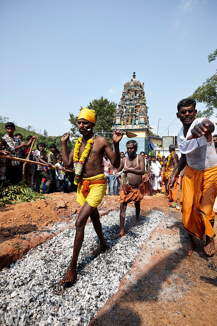
<path fill-rule="evenodd" d="M 197 171 L 186 166 L 182 195 L 184 229 L 196 238 L 202 240 L 204 233 L 215 238 L 215 232 L 210 222 L 214 221 L 213 205 L 217 194 L 217 167 Z"/>

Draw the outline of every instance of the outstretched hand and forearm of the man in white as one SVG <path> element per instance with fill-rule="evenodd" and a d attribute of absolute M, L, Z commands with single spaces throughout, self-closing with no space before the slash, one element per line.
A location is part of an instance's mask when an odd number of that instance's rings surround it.
<path fill-rule="evenodd" d="M 209 119 L 206 118 L 198 125 L 195 125 L 193 129 L 191 129 L 191 135 L 187 138 L 187 140 L 205 136 L 207 141 L 211 142 L 212 132 L 214 130 L 215 130 L 215 126 Z"/>

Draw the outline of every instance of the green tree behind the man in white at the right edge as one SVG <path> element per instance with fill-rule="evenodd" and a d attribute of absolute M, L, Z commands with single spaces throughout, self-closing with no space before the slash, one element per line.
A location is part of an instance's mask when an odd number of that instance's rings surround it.
<path fill-rule="evenodd" d="M 214 61 L 217 58 L 217 49 L 208 55 L 208 61 Z M 210 118 L 213 114 L 214 109 L 217 109 L 217 72 L 207 78 L 201 86 L 198 86 L 191 98 L 199 103 L 204 103 L 206 105 L 206 110 L 198 111 L 196 117 L 200 118 L 206 116 Z"/>

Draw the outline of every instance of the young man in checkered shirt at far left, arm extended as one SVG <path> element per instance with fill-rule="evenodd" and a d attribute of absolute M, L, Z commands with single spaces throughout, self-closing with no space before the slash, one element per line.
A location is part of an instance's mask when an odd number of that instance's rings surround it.
<path fill-rule="evenodd" d="M 22 142 L 18 137 L 14 136 L 15 125 L 13 122 L 7 122 L 5 124 L 5 130 L 7 134 L 2 138 L 6 141 L 6 150 L 12 154 L 14 157 L 18 157 L 19 149 L 26 146 L 27 148 L 33 142 L 33 139 L 38 139 L 37 136 L 33 136 L 28 143 Z M 9 164 L 6 166 L 6 180 L 15 185 L 18 183 L 18 173 L 19 173 L 19 161 L 10 160 Z"/>

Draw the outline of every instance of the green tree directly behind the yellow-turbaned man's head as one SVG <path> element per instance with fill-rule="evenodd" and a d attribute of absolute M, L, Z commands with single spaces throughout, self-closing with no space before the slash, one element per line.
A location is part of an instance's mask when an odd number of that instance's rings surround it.
<path fill-rule="evenodd" d="M 95 132 L 102 133 L 100 136 L 106 137 L 111 145 L 112 142 L 112 135 L 106 134 L 107 132 L 111 132 L 112 122 L 114 118 L 115 109 L 117 107 L 117 103 L 110 102 L 107 98 L 103 98 L 101 96 L 98 99 L 94 99 L 92 102 L 89 103 L 87 106 L 88 109 L 96 111 L 96 126 Z M 74 116 L 73 113 L 69 113 L 69 121 L 72 124 L 71 131 L 72 134 L 75 135 L 78 132 L 77 122 L 78 117 Z M 79 135 L 75 135 L 75 138 L 78 138 Z"/>

